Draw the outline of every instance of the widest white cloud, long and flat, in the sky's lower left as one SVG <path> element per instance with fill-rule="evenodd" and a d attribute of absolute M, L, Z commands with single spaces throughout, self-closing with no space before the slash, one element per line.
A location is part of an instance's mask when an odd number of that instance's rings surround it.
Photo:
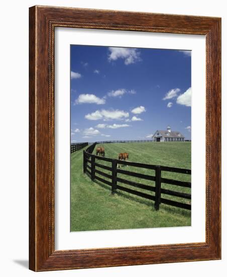
<path fill-rule="evenodd" d="M 112 119 L 121 120 L 127 117 L 129 117 L 129 113 L 121 110 L 96 110 L 85 115 L 85 118 L 88 120 L 102 119 L 104 121 Z"/>

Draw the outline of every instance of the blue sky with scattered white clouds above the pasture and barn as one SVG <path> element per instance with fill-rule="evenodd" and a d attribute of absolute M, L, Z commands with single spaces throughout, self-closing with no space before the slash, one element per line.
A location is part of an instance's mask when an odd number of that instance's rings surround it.
<path fill-rule="evenodd" d="M 191 139 L 191 52 L 71 45 L 71 142 Z"/>

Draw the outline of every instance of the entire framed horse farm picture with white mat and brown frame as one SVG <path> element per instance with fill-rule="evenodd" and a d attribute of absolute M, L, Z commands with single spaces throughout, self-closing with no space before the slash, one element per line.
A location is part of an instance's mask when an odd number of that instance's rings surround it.
<path fill-rule="evenodd" d="M 220 24 L 30 8 L 30 269 L 221 258 Z"/>

